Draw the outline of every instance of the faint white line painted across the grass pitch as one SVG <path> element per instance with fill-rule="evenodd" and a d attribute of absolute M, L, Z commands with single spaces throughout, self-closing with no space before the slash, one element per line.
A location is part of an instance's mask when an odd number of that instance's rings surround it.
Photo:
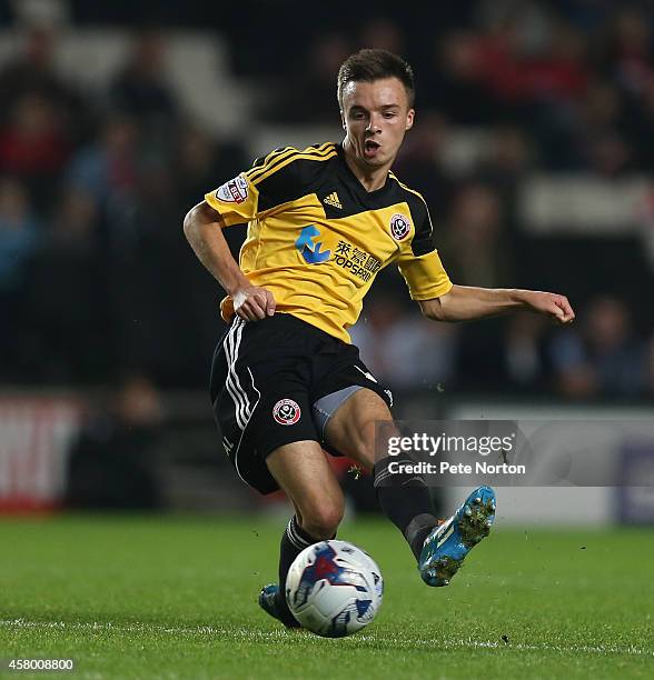
<path fill-rule="evenodd" d="M 108 630 L 116 632 L 158 632 L 167 633 L 171 636 L 184 636 L 184 634 L 215 634 L 221 638 L 250 638 L 259 641 L 265 640 L 288 640 L 296 633 L 288 633 L 285 630 L 251 630 L 247 628 L 216 628 L 214 626 L 197 626 L 197 627 L 171 627 L 160 626 L 151 623 L 112 623 L 112 622 L 89 622 L 89 621 L 26 621 L 24 619 L 8 619 L 0 620 L 0 628 L 43 628 L 52 629 L 57 628 L 60 630 Z M 291 639 L 291 638 L 290 638 Z M 303 642 L 310 641 L 318 643 L 325 638 L 308 637 L 303 638 Z M 396 637 L 376 637 L 369 634 L 358 634 L 354 638 L 355 641 L 367 641 L 375 644 L 384 643 L 395 644 L 398 649 L 402 649 L 406 639 L 399 639 Z M 409 647 L 428 647 L 434 650 L 438 649 L 512 649 L 518 651 L 556 651 L 567 653 L 587 653 L 587 654 L 627 654 L 627 656 L 641 656 L 641 657 L 654 657 L 654 651 L 648 649 L 641 649 L 637 647 L 620 647 L 616 644 L 549 644 L 544 642 L 542 644 L 525 644 L 523 642 L 496 642 L 493 640 L 423 640 L 415 638 L 408 641 Z"/>

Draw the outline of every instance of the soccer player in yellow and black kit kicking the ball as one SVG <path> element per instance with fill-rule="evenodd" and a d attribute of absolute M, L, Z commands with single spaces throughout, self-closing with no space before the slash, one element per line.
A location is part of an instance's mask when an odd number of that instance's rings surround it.
<path fill-rule="evenodd" d="M 384 50 L 361 50 L 338 73 L 345 140 L 286 148 L 207 193 L 185 219 L 196 254 L 228 297 L 231 326 L 219 342 L 210 393 L 225 450 L 241 479 L 268 493 L 284 489 L 295 516 L 281 538 L 279 587 L 259 603 L 287 627 L 288 569 L 307 546 L 333 538 L 344 498 L 323 449 L 375 470 L 387 517 L 399 528 L 429 586 L 446 586 L 488 533 L 495 497 L 475 490 L 445 523 L 415 477 L 388 484 L 375 461 L 375 423 L 392 421 L 384 389 L 349 343 L 376 273 L 397 263 L 427 319 L 463 321 L 531 309 L 561 323 L 565 297 L 454 286 L 438 258 L 422 196 L 392 172 L 414 122 L 410 67 Z M 240 262 L 221 230 L 249 222 Z"/>

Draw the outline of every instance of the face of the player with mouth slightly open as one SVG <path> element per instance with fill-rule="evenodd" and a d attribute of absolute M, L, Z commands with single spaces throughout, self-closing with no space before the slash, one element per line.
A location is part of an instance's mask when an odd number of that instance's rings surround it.
<path fill-rule="evenodd" d="M 343 89 L 343 128 L 346 149 L 360 166 L 389 167 L 414 124 L 414 110 L 397 78 L 374 82 L 348 82 Z"/>

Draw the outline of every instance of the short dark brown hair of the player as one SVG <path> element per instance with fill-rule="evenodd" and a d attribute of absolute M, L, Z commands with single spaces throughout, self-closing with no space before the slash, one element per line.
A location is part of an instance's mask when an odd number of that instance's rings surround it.
<path fill-rule="evenodd" d="M 343 90 L 348 82 L 374 82 L 384 78 L 397 78 L 402 82 L 412 108 L 416 96 L 414 70 L 402 57 L 387 50 L 359 50 L 343 62 L 336 81 L 338 106 L 343 108 Z"/>

